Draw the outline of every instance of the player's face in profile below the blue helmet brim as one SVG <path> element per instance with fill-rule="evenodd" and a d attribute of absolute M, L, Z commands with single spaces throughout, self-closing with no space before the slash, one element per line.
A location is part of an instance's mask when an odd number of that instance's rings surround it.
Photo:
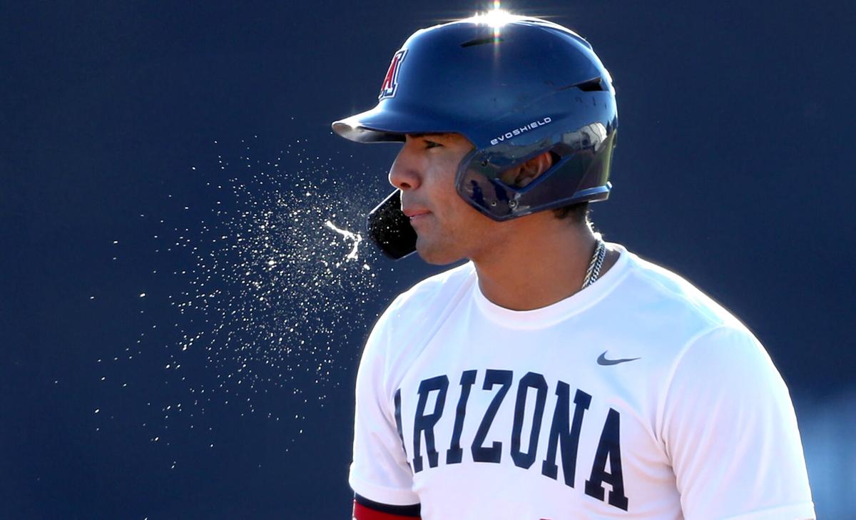
<path fill-rule="evenodd" d="M 480 214 L 455 191 L 458 165 L 471 150 L 473 144 L 457 133 L 407 135 L 389 170 L 425 262 L 473 258 L 497 242 L 499 222 Z"/>

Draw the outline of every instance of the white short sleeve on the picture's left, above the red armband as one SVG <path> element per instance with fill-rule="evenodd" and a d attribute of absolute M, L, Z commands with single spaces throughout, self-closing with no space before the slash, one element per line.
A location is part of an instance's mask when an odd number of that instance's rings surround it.
<path fill-rule="evenodd" d="M 395 422 L 395 395 L 387 388 L 388 315 L 372 330 L 357 373 L 354 461 L 348 482 L 366 499 L 388 505 L 413 505 L 413 473 Z"/>

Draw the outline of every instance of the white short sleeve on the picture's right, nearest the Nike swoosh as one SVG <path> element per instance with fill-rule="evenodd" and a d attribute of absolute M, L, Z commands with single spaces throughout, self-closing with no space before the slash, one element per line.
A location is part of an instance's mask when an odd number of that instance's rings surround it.
<path fill-rule="evenodd" d="M 687 346 L 662 428 L 687 520 L 815 517 L 788 387 L 746 329 L 715 328 Z"/>

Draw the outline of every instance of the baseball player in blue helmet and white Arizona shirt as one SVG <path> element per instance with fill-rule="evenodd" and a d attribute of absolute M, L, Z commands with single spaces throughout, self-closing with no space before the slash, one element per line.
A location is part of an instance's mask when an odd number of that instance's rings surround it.
<path fill-rule="evenodd" d="M 355 519 L 814 518 L 764 347 L 591 230 L 617 123 L 591 45 L 522 17 L 415 32 L 377 106 L 333 123 L 402 144 L 377 245 L 469 260 L 401 294 L 368 339 Z"/>

